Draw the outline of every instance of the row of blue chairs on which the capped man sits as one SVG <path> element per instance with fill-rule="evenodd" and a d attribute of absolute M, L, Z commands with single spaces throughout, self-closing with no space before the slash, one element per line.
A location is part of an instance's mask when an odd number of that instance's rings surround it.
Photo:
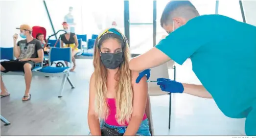
<path fill-rule="evenodd" d="M 52 66 L 45 66 L 43 67 L 43 63 L 36 64 L 36 67 L 32 69 L 33 76 L 51 76 L 51 77 L 63 77 L 61 88 L 59 91 L 58 97 L 62 97 L 62 92 L 64 90 L 64 86 L 66 80 L 69 81 L 71 88 L 73 89 L 74 86 L 69 78 L 70 76 L 70 65 L 72 62 L 72 54 L 71 48 L 59 48 L 59 47 L 50 47 L 49 51 L 49 63 L 56 62 L 56 61 L 67 61 L 69 63 L 68 67 L 52 67 Z M 0 47 L 0 60 L 14 60 L 13 56 L 13 47 Z M 1 72 L 2 76 L 5 75 L 24 75 L 23 71 L 9 71 L 9 72 Z"/>

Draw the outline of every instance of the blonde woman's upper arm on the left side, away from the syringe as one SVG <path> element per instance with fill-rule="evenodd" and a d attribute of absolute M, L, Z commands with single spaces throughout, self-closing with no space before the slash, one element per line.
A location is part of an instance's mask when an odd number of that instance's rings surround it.
<path fill-rule="evenodd" d="M 89 86 L 89 109 L 88 109 L 89 115 L 95 115 L 95 112 L 94 112 L 94 99 L 95 99 L 94 82 L 95 82 L 95 75 L 93 72 L 91 79 L 90 79 L 90 86 Z"/>

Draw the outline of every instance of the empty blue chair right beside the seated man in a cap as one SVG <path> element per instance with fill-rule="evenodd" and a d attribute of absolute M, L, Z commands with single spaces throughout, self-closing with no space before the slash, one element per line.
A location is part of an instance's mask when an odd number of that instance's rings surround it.
<path fill-rule="evenodd" d="M 49 52 L 49 63 L 55 62 L 55 61 L 67 61 L 69 63 L 72 62 L 72 54 L 71 54 L 71 48 L 57 48 L 57 47 L 50 47 Z M 71 65 L 71 64 L 70 64 Z M 66 83 L 66 80 L 69 81 L 71 88 L 75 88 L 73 84 L 70 81 L 70 69 L 71 67 L 52 67 L 52 66 L 46 66 L 39 70 L 43 75 L 45 76 L 55 76 L 55 77 L 63 77 L 61 89 L 59 92 L 58 97 L 62 97 L 62 92 L 64 90 L 64 85 Z"/>

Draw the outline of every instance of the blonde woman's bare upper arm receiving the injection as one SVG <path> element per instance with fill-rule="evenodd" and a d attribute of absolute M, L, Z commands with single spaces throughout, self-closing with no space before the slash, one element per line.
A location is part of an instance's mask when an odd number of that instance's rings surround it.
<path fill-rule="evenodd" d="M 139 72 L 133 72 L 133 114 L 132 116 L 143 117 L 147 103 L 147 78 L 144 76 L 140 82 L 136 83 Z"/>

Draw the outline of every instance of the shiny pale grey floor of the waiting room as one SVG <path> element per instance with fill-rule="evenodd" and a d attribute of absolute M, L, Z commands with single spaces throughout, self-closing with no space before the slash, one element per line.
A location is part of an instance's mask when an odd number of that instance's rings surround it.
<path fill-rule="evenodd" d="M 88 135 L 87 110 L 89 79 L 93 72 L 92 60 L 79 59 L 67 83 L 63 97 L 58 98 L 61 78 L 34 77 L 32 98 L 22 102 L 23 76 L 3 76 L 10 97 L 1 98 L 1 115 L 11 122 L 3 126 L 1 136 L 59 136 Z M 169 70 L 172 76 L 172 70 Z M 191 70 L 191 61 L 177 65 L 177 81 L 200 84 Z M 221 78 L 220 78 L 221 79 Z M 168 129 L 169 96 L 151 97 L 155 135 L 244 135 L 244 120 L 223 115 L 213 99 L 188 94 L 173 94 L 171 129 Z"/>

